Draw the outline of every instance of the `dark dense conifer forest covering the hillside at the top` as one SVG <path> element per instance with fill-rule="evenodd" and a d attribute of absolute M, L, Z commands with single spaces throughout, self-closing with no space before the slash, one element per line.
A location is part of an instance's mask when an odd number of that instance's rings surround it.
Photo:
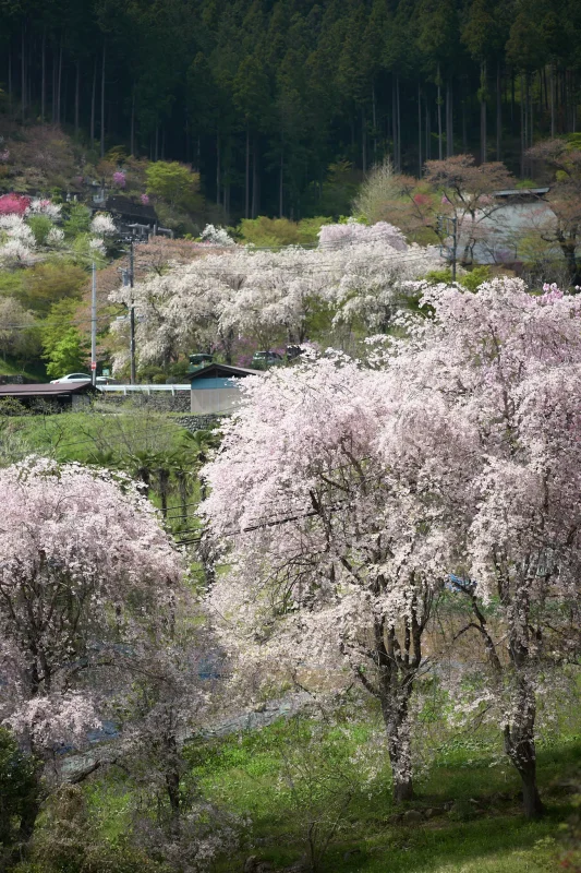
<path fill-rule="evenodd" d="M 227 215 L 337 214 L 386 154 L 531 175 L 576 131 L 580 34 L 576 0 L 2 0 L 0 97 L 192 164 Z"/>

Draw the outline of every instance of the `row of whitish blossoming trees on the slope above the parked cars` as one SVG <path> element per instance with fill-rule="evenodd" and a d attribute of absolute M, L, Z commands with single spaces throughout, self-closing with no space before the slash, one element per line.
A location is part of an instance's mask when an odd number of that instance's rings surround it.
<path fill-rule="evenodd" d="M 167 361 L 193 348 L 220 349 L 227 359 L 239 335 L 261 348 L 303 342 L 313 315 L 326 309 L 335 323 L 367 331 L 389 323 L 402 283 L 441 266 L 436 249 L 407 246 L 400 231 L 379 223 L 324 226 L 314 250 L 242 248 L 207 229 L 225 247 L 154 276 L 133 289 L 142 362 Z M 129 303 L 128 289 L 113 299 Z"/>

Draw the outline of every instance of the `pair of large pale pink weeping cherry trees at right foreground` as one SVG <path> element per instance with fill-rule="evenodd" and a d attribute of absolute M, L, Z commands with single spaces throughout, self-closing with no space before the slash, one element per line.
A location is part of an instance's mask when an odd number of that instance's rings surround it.
<path fill-rule="evenodd" d="M 453 573 L 455 636 L 489 665 L 472 705 L 533 816 L 542 677 L 579 643 L 581 304 L 518 279 L 419 290 L 433 318 L 401 316 L 374 369 L 335 357 L 245 381 L 205 470 L 231 563 L 210 605 L 242 677 L 351 671 L 380 703 L 404 799 L 423 635 Z"/>

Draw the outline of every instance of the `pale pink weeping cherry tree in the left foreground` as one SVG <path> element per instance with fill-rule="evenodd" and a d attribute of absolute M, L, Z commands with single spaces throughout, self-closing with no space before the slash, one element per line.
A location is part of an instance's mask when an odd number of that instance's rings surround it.
<path fill-rule="evenodd" d="M 161 645 L 182 565 L 129 478 L 29 458 L 0 471 L 0 721 L 40 765 L 25 841 L 59 750 L 86 744 Z"/>

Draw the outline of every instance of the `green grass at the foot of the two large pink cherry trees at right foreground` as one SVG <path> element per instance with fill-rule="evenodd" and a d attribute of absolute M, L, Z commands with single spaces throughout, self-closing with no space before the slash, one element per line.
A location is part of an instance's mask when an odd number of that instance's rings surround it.
<path fill-rule="evenodd" d="M 329 822 L 337 810 L 336 782 L 328 772 L 301 767 L 302 750 L 288 722 L 259 733 L 222 741 L 194 757 L 194 772 L 209 797 L 250 814 L 253 853 L 275 869 L 296 862 L 306 848 L 313 822 Z M 344 739 L 343 765 L 355 738 Z M 361 741 L 361 737 L 359 740 Z M 320 756 L 328 755 L 325 742 Z M 581 774 L 581 736 L 570 733 L 542 744 L 538 777 L 547 806 L 540 822 L 520 810 L 519 779 L 491 740 L 451 743 L 423 778 L 408 815 L 389 796 L 389 772 L 379 768 L 371 784 L 356 784 L 320 870 L 328 873 L 547 873 L 560 869 L 559 826 L 571 814 L 573 774 Z M 292 755 L 294 754 L 294 770 Z M 306 749 L 306 757 L 311 753 Z M 339 756 L 340 757 L 340 756 Z M 291 767 L 289 768 L 289 760 Z M 303 758 L 304 762 L 304 758 Z M 337 773 L 341 761 L 332 761 Z M 298 791 L 289 790 L 294 780 Z M 306 778 L 306 784 L 305 782 Z M 301 779 L 303 785 L 300 785 Z M 306 811 L 299 809 L 301 800 Z M 446 809 L 451 805 L 451 809 Z M 417 813 L 422 816 L 421 821 Z M 332 812 L 335 814 L 335 812 Z M 411 821 L 408 821 L 410 818 Z M 220 873 L 242 869 L 229 859 Z"/>

